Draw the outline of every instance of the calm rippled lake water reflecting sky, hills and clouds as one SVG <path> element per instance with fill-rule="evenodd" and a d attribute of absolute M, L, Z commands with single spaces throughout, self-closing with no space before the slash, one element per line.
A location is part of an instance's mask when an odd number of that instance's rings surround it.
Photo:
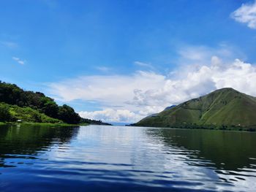
<path fill-rule="evenodd" d="M 0 191 L 255 189 L 255 133 L 0 127 Z"/>

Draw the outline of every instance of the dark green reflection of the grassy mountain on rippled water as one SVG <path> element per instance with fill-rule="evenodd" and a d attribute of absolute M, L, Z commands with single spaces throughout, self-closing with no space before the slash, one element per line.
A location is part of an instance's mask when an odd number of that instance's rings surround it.
<path fill-rule="evenodd" d="M 205 158 L 217 169 L 238 170 L 250 166 L 256 157 L 256 135 L 238 131 L 155 129 L 148 132 L 162 137 L 170 147 L 185 147 L 194 153 L 190 158 Z"/>

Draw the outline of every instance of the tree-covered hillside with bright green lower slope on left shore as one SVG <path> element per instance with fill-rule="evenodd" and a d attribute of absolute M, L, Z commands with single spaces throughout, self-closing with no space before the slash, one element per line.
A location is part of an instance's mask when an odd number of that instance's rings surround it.
<path fill-rule="evenodd" d="M 80 118 L 67 104 L 59 106 L 44 93 L 24 91 L 15 84 L 0 81 L 0 122 L 23 120 L 38 123 L 93 123 L 97 120 Z"/>

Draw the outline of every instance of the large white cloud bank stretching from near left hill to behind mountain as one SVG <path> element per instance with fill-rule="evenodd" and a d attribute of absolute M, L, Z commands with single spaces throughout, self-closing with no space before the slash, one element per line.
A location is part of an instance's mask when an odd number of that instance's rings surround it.
<path fill-rule="evenodd" d="M 238 59 L 231 61 L 233 53 L 226 48 L 192 48 L 180 51 L 184 54 L 180 60 L 183 65 L 170 74 L 139 71 L 127 75 L 83 76 L 51 83 L 50 93 L 62 101 L 95 101 L 102 110 L 83 111 L 80 115 L 108 122 L 136 122 L 167 106 L 219 88 L 231 87 L 256 96 L 255 65 Z M 202 55 L 193 60 L 186 52 Z"/>

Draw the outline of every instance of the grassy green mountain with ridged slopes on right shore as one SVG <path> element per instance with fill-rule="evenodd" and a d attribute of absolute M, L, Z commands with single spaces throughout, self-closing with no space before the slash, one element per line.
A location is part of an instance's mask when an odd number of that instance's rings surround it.
<path fill-rule="evenodd" d="M 143 118 L 132 126 L 256 129 L 256 98 L 222 88 Z"/>

